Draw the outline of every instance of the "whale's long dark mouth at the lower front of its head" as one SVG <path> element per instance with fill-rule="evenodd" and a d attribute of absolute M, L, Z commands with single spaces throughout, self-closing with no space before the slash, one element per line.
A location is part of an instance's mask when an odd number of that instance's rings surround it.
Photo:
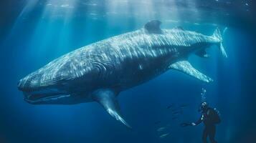
<path fill-rule="evenodd" d="M 70 97 L 70 94 L 65 92 L 57 92 L 52 90 L 44 90 L 38 92 L 23 92 L 24 100 L 30 104 L 39 104 L 42 102 L 54 102 L 58 99 Z"/>

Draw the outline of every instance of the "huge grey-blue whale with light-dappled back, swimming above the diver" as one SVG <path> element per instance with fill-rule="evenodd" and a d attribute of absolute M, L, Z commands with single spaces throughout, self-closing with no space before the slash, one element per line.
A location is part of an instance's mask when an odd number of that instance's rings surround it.
<path fill-rule="evenodd" d="M 188 61 L 191 54 L 209 57 L 218 47 L 227 57 L 219 28 L 207 36 L 181 26 L 162 29 L 161 21 L 148 21 L 141 29 L 83 46 L 49 62 L 18 82 L 29 104 L 98 102 L 108 114 L 125 124 L 118 95 L 160 76 L 170 69 L 202 82 L 213 82 Z"/>

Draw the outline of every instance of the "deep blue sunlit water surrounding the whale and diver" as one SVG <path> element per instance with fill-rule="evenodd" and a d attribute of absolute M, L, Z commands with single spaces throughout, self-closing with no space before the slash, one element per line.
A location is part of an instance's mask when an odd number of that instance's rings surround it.
<path fill-rule="evenodd" d="M 199 119 L 202 89 L 221 113 L 219 143 L 256 142 L 255 5 L 235 0 L 9 0 L 0 2 L 0 143 L 16 142 L 202 142 Z M 118 96 L 126 121 L 95 102 L 32 105 L 17 82 L 53 59 L 110 36 L 141 29 L 158 19 L 161 28 L 182 26 L 212 35 L 225 29 L 225 59 L 217 47 L 210 57 L 190 56 L 191 64 L 214 79 L 205 84 L 169 70 Z M 172 105 L 171 108 L 168 108 Z M 186 105 L 181 108 L 182 105 Z M 179 110 L 179 114 L 173 114 Z M 163 127 L 164 129 L 159 129 Z M 161 134 L 169 133 L 161 138 Z"/>

